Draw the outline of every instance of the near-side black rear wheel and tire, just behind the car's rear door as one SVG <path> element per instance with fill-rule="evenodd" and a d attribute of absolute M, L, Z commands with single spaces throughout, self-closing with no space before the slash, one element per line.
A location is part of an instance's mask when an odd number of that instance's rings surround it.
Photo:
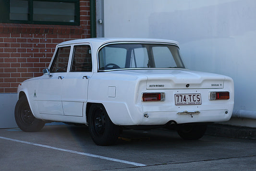
<path fill-rule="evenodd" d="M 88 127 L 93 141 L 100 146 L 109 146 L 116 143 L 120 128 L 113 124 L 105 107 L 93 104 L 89 109 Z"/>

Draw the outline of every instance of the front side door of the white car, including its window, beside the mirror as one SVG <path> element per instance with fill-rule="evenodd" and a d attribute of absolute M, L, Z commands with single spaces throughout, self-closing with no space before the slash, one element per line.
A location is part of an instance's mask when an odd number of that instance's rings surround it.
<path fill-rule="evenodd" d="M 67 75 L 70 49 L 70 46 L 59 47 L 49 67 L 50 75 L 39 80 L 35 96 L 40 114 L 63 115 L 62 82 Z"/>

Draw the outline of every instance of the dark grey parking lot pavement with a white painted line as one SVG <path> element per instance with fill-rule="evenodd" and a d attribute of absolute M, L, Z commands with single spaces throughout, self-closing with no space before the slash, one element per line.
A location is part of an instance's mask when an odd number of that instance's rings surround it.
<path fill-rule="evenodd" d="M 83 126 L 40 132 L 0 129 L 1 171 L 256 171 L 256 141 L 205 135 L 186 141 L 169 130 L 124 130 L 114 146 L 97 146 Z M 132 141 L 128 141 L 130 139 Z"/>

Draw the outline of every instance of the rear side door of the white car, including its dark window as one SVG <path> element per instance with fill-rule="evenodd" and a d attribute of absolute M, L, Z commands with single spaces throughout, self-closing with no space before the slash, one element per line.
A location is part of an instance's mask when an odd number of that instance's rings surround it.
<path fill-rule="evenodd" d="M 89 44 L 75 45 L 71 67 L 63 79 L 62 105 L 66 116 L 83 117 L 87 101 L 88 81 L 92 76 L 92 56 Z"/>

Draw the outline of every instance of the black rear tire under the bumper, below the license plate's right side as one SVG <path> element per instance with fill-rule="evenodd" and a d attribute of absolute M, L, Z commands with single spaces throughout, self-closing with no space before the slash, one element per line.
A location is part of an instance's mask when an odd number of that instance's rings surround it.
<path fill-rule="evenodd" d="M 205 124 L 189 124 L 179 126 L 177 132 L 183 139 L 195 140 L 202 138 L 206 132 L 206 129 L 207 125 Z"/>

